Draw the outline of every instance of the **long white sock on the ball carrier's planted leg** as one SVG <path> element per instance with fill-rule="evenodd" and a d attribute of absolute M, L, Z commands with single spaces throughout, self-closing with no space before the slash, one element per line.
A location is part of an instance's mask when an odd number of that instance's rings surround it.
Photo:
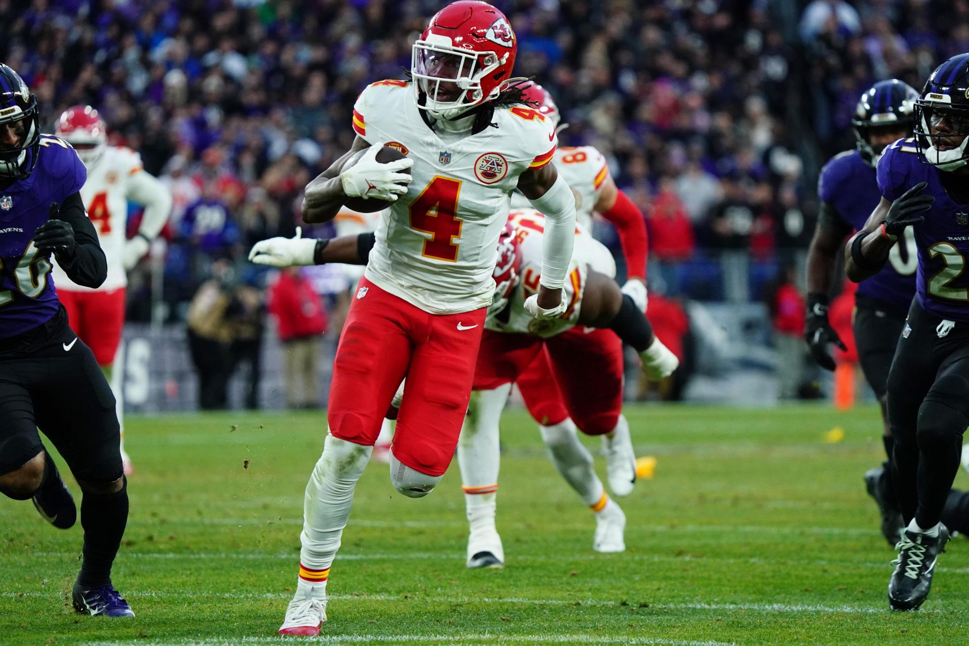
<path fill-rule="evenodd" d="M 356 445 L 327 434 L 323 455 L 306 483 L 303 498 L 297 596 L 325 596 L 329 566 L 350 517 L 357 480 L 372 451 L 373 446 Z"/>

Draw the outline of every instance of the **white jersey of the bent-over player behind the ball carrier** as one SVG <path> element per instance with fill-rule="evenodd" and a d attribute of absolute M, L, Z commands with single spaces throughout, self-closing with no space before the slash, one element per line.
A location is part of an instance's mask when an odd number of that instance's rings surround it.
<path fill-rule="evenodd" d="M 495 332 L 533 334 L 544 339 L 561 334 L 575 327 L 582 307 L 582 294 L 589 269 L 615 278 L 615 261 L 610 250 L 592 237 L 581 225 L 576 227 L 576 246 L 573 248 L 569 274 L 565 279 L 563 300 L 568 303 L 565 314 L 558 319 L 539 320 L 525 309 L 525 299 L 539 289 L 542 275 L 542 235 L 545 233 L 545 216 L 535 209 L 512 211 L 509 222 L 515 227 L 520 241 L 521 282 L 512 292 L 508 305 L 508 322 L 499 316 L 489 317 L 485 329 Z"/>

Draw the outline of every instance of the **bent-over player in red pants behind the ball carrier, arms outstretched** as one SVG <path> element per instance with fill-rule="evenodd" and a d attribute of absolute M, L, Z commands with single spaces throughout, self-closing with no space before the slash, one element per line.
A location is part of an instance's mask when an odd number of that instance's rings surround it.
<path fill-rule="evenodd" d="M 539 285 L 545 225 L 546 219 L 538 211 L 519 209 L 512 212 L 499 239 L 494 300 L 488 307 L 475 366 L 475 399 L 457 446 L 463 489 L 469 494 L 467 500 L 475 502 L 467 508 L 469 568 L 504 565 L 494 520 L 500 459 L 498 420 L 512 383 L 531 369 L 538 355 L 547 354 L 551 380 L 547 387 L 554 396 L 544 400 L 541 412 L 532 415 L 558 419 L 572 415 L 578 427 L 590 434 L 613 428 L 620 415 L 623 342 L 640 352 L 643 369 L 651 379 L 668 377 L 678 365 L 675 354 L 653 334 L 640 307 L 612 280 L 615 264 L 610 251 L 581 227 L 576 230 L 565 285 L 568 308 L 552 320 L 537 321 L 531 316 L 525 302 Z M 374 244 L 373 233 L 316 241 L 276 237 L 258 242 L 249 258 L 272 266 L 360 264 L 366 262 Z M 592 456 L 575 430 L 543 432 L 543 439 L 559 473 L 596 512 L 593 548 L 623 551 L 626 517 L 606 495 L 592 469 Z"/>

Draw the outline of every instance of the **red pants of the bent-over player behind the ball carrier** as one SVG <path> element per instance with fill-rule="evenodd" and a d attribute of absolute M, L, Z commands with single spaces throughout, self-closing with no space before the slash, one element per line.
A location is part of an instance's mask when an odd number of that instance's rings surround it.
<path fill-rule="evenodd" d="M 528 412 L 550 426 L 571 416 L 587 435 L 615 428 L 622 412 L 622 342 L 611 330 L 575 327 L 545 339 L 485 332 L 475 390 L 515 382 Z"/>

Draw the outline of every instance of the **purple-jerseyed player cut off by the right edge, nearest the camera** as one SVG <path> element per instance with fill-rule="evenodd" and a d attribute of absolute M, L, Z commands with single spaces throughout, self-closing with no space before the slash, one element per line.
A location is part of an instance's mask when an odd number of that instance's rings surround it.
<path fill-rule="evenodd" d="M 892 484 L 905 528 L 889 582 L 893 610 L 928 597 L 949 540 L 941 522 L 969 425 L 969 53 L 932 73 L 915 102 L 914 138 L 878 163 L 882 199 L 845 246 L 848 277 L 878 273 L 911 227 L 918 247 L 916 298 L 888 382 Z"/>

